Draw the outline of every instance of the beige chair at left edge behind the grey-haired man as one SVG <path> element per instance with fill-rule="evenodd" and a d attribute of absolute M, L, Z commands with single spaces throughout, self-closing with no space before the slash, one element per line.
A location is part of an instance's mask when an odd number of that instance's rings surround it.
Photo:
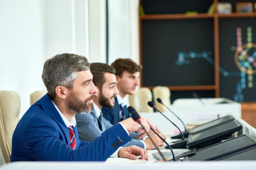
<path fill-rule="evenodd" d="M 21 99 L 15 91 L 0 91 L 0 147 L 5 162 L 10 162 L 11 140 L 19 121 Z"/>

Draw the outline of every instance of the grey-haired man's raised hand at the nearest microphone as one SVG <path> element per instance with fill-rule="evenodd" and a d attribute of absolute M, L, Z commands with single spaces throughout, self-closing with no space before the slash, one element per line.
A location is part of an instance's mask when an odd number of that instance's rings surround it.
<path fill-rule="evenodd" d="M 149 121 L 149 119 L 141 116 L 141 122 L 147 132 L 149 131 L 150 127 L 153 128 L 154 130 L 156 130 L 156 128 L 154 128 L 154 125 Z M 139 135 L 139 137 L 138 137 L 139 139 L 146 136 L 146 132 L 144 132 L 144 130 L 142 130 L 142 126 L 139 125 L 139 123 L 135 122 L 132 118 L 127 118 L 125 120 L 122 120 L 120 123 L 122 123 L 122 125 L 124 125 L 124 127 L 128 130 L 128 132 L 137 131 L 137 132 L 141 133 L 141 135 Z"/>

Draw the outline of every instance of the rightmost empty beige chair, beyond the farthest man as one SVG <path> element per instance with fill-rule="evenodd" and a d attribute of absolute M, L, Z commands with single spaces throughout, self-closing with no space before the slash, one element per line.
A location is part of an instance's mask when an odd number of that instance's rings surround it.
<path fill-rule="evenodd" d="M 161 103 L 156 101 L 156 98 L 161 98 L 161 101 L 167 106 L 171 106 L 171 91 L 167 86 L 155 86 L 153 89 L 154 104 L 161 112 L 168 111 Z"/>

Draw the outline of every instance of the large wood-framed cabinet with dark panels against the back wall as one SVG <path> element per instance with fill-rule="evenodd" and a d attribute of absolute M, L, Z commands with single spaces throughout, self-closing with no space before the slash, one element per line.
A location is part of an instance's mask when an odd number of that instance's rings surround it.
<path fill-rule="evenodd" d="M 219 2 L 230 2 L 233 13 L 218 13 L 216 6 L 214 13 L 208 13 L 210 5 Z M 236 2 L 240 1 L 141 0 L 145 13 L 139 15 L 142 86 L 149 89 L 168 86 L 173 99 L 192 97 L 191 91 L 199 91 L 201 97 L 224 97 L 238 102 L 256 101 L 256 88 L 250 86 L 250 89 L 245 89 L 249 81 L 256 86 L 255 73 L 245 72 L 236 65 L 238 61 L 234 62 L 235 50 L 238 49 L 238 33 L 235 28 L 238 24 L 248 28 L 249 24 L 252 28 L 252 42 L 256 43 L 256 13 L 235 13 Z M 233 30 L 228 30 L 229 26 Z M 231 31 L 232 36 L 229 35 Z M 245 32 L 243 35 L 245 43 L 248 38 Z M 226 47 L 227 44 L 229 46 Z M 255 47 L 252 49 L 255 56 L 248 60 L 256 58 Z M 230 51 L 232 48 L 233 51 Z M 242 72 L 244 79 L 240 78 Z M 237 75 L 238 79 L 229 80 L 227 74 L 230 77 L 232 74 Z M 247 84 L 241 85 L 239 89 L 238 84 L 244 80 Z M 241 91 L 250 97 L 241 94 Z M 183 94 L 178 96 L 179 93 Z"/>

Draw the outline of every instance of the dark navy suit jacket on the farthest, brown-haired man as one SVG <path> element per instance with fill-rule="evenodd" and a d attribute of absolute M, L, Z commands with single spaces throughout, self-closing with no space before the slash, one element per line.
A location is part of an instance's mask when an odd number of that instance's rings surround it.
<path fill-rule="evenodd" d="M 112 125 L 120 122 L 120 106 L 117 101 L 117 97 L 114 98 L 114 108 L 102 108 L 102 113 L 105 119 L 107 119 Z M 128 111 L 124 112 L 124 119 L 130 118 L 131 115 Z"/>

